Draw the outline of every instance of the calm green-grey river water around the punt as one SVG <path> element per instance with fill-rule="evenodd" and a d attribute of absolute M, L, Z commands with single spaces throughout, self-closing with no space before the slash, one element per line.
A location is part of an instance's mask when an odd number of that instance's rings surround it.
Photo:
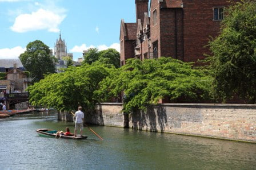
<path fill-rule="evenodd" d="M 0 119 L 0 169 L 255 169 L 256 144 L 91 126 L 86 140 L 39 136 L 38 128 L 74 131 L 57 113 Z"/>

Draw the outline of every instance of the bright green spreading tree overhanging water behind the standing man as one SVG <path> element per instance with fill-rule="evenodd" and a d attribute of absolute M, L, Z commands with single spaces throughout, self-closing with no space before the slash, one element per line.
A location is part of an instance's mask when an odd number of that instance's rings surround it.
<path fill-rule="evenodd" d="M 58 110 L 75 110 L 78 106 L 93 108 L 97 103 L 94 90 L 112 70 L 102 64 L 85 64 L 82 67 L 69 67 L 59 74 L 49 74 L 29 86 L 30 103 Z"/>

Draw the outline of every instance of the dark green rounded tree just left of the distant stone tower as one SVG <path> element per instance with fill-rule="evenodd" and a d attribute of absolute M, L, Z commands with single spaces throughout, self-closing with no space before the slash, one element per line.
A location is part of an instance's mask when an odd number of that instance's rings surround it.
<path fill-rule="evenodd" d="M 50 56 L 50 49 L 40 40 L 27 44 L 26 51 L 19 56 L 26 71 L 29 71 L 37 82 L 44 78 L 44 74 L 54 73 L 54 57 Z"/>

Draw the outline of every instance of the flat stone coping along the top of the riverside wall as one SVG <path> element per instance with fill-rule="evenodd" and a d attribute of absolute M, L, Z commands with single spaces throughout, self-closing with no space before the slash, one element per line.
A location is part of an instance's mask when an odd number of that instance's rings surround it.
<path fill-rule="evenodd" d="M 100 105 L 119 105 L 122 106 L 123 103 L 100 103 Z M 256 104 L 221 104 L 221 103 L 163 103 L 158 104 L 159 106 L 218 106 L 218 107 L 256 107 Z"/>

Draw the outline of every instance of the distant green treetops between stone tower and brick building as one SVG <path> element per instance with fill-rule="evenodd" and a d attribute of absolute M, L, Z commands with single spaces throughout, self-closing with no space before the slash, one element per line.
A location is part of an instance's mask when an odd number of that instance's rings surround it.
<path fill-rule="evenodd" d="M 115 68 L 120 67 L 120 53 L 109 48 L 103 51 L 98 51 L 97 48 L 90 48 L 85 56 L 83 56 L 83 63 L 92 64 L 94 62 L 103 64 L 113 64 Z"/>

